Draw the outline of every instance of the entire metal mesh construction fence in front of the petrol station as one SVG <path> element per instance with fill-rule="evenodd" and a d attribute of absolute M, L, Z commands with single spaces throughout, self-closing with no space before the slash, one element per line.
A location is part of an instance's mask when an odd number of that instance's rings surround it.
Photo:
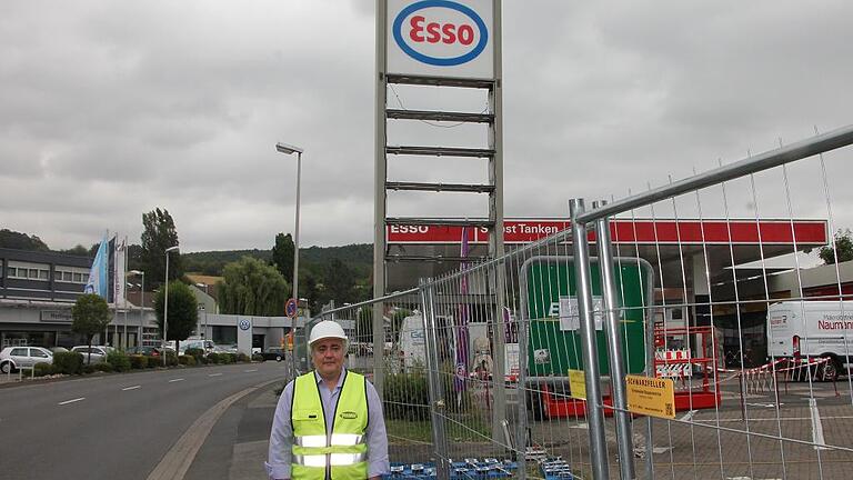
<path fill-rule="evenodd" d="M 846 478 L 851 143 L 571 200 L 556 234 L 308 329 L 348 330 L 401 478 Z"/>

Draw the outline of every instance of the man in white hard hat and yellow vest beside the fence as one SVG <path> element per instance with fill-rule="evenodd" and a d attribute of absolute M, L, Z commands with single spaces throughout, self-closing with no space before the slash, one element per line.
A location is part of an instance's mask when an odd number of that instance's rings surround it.
<path fill-rule="evenodd" d="M 389 471 L 382 403 L 363 376 L 343 368 L 347 341 L 337 322 L 311 329 L 315 370 L 281 392 L 270 433 L 270 479 L 379 479 Z"/>

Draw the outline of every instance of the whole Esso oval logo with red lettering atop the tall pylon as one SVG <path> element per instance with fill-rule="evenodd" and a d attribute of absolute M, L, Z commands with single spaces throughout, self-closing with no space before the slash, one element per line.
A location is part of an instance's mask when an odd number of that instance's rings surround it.
<path fill-rule="evenodd" d="M 412 3 L 400 11 L 392 28 L 405 54 L 438 67 L 475 59 L 489 40 L 485 22 L 474 10 L 448 0 Z"/>

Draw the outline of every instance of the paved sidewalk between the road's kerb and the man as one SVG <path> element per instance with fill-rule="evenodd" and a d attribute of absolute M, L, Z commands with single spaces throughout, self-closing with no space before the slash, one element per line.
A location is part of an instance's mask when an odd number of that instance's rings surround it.
<path fill-rule="evenodd" d="M 267 480 L 263 462 L 280 386 L 234 402 L 211 430 L 184 480 Z"/>

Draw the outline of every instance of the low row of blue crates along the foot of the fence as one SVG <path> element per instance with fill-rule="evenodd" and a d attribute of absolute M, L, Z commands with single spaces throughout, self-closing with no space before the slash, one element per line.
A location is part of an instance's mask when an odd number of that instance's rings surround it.
<path fill-rule="evenodd" d="M 514 477 L 518 463 L 510 460 L 470 458 L 450 461 L 451 480 L 490 480 Z M 430 480 L 436 478 L 434 463 L 392 463 L 384 480 Z"/>

